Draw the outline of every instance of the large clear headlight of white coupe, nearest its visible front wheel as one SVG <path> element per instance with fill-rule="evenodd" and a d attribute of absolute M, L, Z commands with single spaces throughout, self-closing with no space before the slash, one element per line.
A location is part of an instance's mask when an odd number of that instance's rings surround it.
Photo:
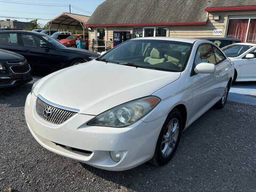
<path fill-rule="evenodd" d="M 88 125 L 125 127 L 147 115 L 161 101 L 158 97 L 150 96 L 126 102 L 109 109 L 93 118 Z"/>

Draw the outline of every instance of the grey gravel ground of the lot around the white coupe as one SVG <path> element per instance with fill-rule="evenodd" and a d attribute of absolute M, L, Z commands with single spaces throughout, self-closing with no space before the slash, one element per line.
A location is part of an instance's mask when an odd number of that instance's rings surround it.
<path fill-rule="evenodd" d="M 0 90 L 0 191 L 256 191 L 255 106 L 228 101 L 207 111 L 183 132 L 163 167 L 146 163 L 110 172 L 36 142 L 23 107 L 31 86 Z"/>

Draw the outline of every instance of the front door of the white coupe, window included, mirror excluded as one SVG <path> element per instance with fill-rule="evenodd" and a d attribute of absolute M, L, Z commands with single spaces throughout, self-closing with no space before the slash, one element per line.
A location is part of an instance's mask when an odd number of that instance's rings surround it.
<path fill-rule="evenodd" d="M 216 64 L 211 44 L 204 43 L 199 45 L 194 57 L 194 64 L 190 77 L 191 92 L 193 94 L 191 114 L 194 114 L 191 121 L 194 121 L 205 113 L 205 111 L 212 107 L 220 98 L 218 71 L 214 74 L 196 74 L 194 72 L 195 67 L 202 62 Z"/>

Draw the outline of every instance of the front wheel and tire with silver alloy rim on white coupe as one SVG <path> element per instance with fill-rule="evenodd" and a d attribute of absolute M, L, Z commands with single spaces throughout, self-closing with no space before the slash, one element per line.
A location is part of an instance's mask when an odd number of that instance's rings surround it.
<path fill-rule="evenodd" d="M 179 145 L 182 130 L 182 115 L 179 109 L 174 108 L 164 122 L 156 143 L 155 154 L 149 163 L 163 166 L 170 162 Z"/>

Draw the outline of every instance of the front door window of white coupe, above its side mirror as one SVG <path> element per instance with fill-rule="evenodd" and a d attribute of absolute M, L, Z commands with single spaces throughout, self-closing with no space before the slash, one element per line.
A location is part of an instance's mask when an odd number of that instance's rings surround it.
<path fill-rule="evenodd" d="M 197 49 L 194 61 L 195 66 L 202 62 L 216 64 L 215 56 L 210 44 L 199 45 Z"/>

